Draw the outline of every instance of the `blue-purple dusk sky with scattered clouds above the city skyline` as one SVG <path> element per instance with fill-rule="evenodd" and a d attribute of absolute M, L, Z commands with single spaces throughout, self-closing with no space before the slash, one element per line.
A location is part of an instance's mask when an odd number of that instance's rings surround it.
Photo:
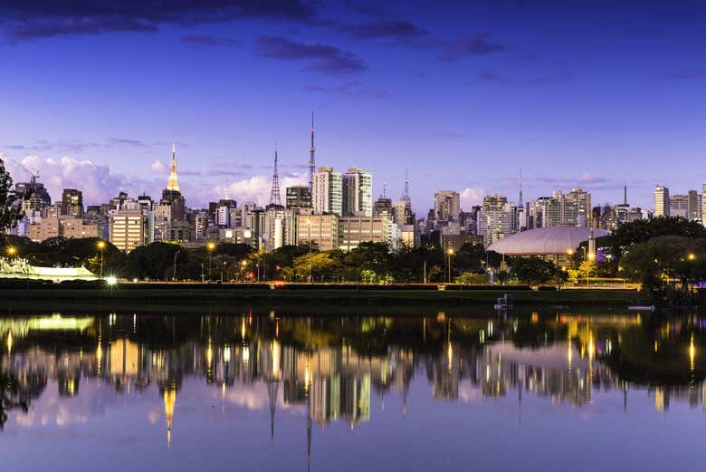
<path fill-rule="evenodd" d="M 417 217 L 580 186 L 653 207 L 701 189 L 706 3 L 65 0 L 0 3 L 0 154 L 52 197 L 158 197 L 176 142 L 187 205 L 267 203 L 317 165 L 373 173 Z M 614 5 L 621 4 L 621 5 Z"/>

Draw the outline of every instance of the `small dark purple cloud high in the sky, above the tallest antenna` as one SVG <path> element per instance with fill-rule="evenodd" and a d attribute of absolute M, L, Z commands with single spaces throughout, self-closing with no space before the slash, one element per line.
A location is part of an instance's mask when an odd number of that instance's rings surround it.
<path fill-rule="evenodd" d="M 282 61 L 302 61 L 306 69 L 329 75 L 367 71 L 367 65 L 354 53 L 318 43 L 295 43 L 276 36 L 260 36 L 255 40 L 260 57 Z"/>

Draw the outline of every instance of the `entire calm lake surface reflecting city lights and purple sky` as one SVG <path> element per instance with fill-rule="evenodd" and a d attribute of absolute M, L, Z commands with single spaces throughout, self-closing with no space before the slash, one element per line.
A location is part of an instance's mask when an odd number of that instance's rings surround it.
<path fill-rule="evenodd" d="M 0 451 L 25 470 L 699 470 L 703 328 L 551 310 L 3 318 Z"/>

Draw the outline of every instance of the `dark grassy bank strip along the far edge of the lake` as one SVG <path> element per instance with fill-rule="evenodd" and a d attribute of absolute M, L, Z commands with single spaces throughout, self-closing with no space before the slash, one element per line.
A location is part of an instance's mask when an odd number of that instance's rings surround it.
<path fill-rule="evenodd" d="M 269 290 L 221 288 L 178 289 L 5 289 L 0 291 L 0 309 L 5 313 L 26 308 L 159 311 L 232 310 L 243 306 L 315 307 L 317 311 L 337 307 L 465 307 L 492 309 L 503 290 Z M 516 305 L 603 305 L 625 307 L 649 304 L 644 294 L 623 290 L 516 291 Z"/>

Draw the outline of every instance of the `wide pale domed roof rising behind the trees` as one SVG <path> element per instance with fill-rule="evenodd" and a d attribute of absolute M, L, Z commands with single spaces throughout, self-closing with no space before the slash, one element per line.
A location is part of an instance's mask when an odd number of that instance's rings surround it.
<path fill-rule="evenodd" d="M 606 236 L 607 231 L 594 229 L 593 236 Z M 591 228 L 577 226 L 551 226 L 530 229 L 503 237 L 488 248 L 505 255 L 561 255 L 568 254 L 587 241 Z"/>

